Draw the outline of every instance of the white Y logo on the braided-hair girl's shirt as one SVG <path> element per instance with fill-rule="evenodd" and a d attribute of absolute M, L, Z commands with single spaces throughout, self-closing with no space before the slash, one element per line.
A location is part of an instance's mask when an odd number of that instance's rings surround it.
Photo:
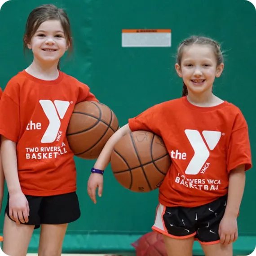
<path fill-rule="evenodd" d="M 214 150 L 221 138 L 221 132 L 203 131 L 203 137 L 210 150 Z M 185 174 L 196 175 L 200 172 L 204 163 L 210 156 L 210 152 L 205 145 L 203 138 L 199 131 L 185 130 L 185 134 L 190 141 L 194 150 L 194 156 L 185 170 Z"/>

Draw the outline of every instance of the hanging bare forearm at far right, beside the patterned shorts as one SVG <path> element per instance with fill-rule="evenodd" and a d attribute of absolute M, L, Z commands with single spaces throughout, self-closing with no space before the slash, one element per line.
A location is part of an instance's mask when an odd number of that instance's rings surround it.
<path fill-rule="evenodd" d="M 240 165 L 230 172 L 228 200 L 225 215 L 238 216 L 245 187 L 244 165 Z"/>

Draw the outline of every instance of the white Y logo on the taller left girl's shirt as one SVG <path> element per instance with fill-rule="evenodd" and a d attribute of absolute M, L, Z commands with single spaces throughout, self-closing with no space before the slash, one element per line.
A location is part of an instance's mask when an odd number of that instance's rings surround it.
<path fill-rule="evenodd" d="M 41 143 L 51 143 L 57 138 L 61 127 L 60 119 L 63 119 L 70 103 L 58 100 L 55 100 L 54 104 L 50 100 L 40 100 L 39 103 L 44 110 L 44 114 L 49 120 L 49 126 L 44 132 Z"/>

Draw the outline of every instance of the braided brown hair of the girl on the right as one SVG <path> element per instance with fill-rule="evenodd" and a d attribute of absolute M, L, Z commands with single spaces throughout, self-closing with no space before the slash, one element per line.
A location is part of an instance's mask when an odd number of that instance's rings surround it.
<path fill-rule="evenodd" d="M 181 58 L 182 58 L 182 54 L 184 52 L 185 47 L 193 45 L 193 44 L 209 45 L 210 47 L 212 47 L 212 49 L 214 51 L 216 61 L 217 61 L 217 66 L 219 66 L 223 62 L 224 58 L 223 58 L 223 55 L 221 52 L 220 44 L 218 44 L 216 41 L 212 40 L 211 38 L 193 35 L 193 36 L 189 37 L 188 39 L 184 40 L 183 42 L 181 42 L 181 44 L 178 47 L 176 61 L 179 64 L 179 66 L 181 66 Z M 188 89 L 183 82 L 182 97 L 186 96 L 187 94 L 188 94 Z"/>

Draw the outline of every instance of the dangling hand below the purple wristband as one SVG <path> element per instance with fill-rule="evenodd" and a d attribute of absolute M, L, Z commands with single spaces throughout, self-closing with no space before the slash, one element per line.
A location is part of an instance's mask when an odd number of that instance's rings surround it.
<path fill-rule="evenodd" d="M 96 201 L 96 189 L 98 188 L 98 196 L 102 196 L 103 190 L 103 175 L 99 173 L 92 173 L 88 179 L 87 191 L 89 197 L 93 200 L 93 203 Z"/>

